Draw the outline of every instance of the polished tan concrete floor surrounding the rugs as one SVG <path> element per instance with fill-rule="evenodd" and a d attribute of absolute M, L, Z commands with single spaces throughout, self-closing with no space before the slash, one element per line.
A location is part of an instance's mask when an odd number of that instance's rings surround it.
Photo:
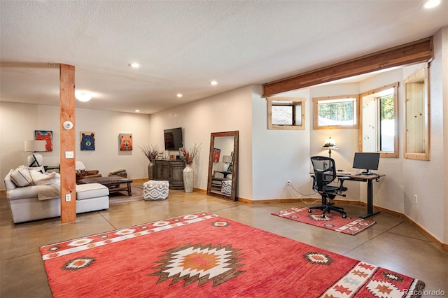
<path fill-rule="evenodd" d="M 317 202 L 318 204 L 318 202 Z M 356 236 L 332 232 L 271 215 L 304 203 L 244 204 L 208 197 L 201 192 L 170 190 L 165 201 L 111 204 L 105 211 L 78 214 L 76 222 L 59 218 L 14 225 L 6 194 L 0 194 L 0 297 L 52 297 L 39 248 L 91 234 L 209 211 L 237 222 L 286 236 L 311 246 L 398 271 L 426 283 L 425 290 L 440 290 L 448 297 L 448 253 L 437 248 L 406 220 L 386 213 L 369 219 L 376 225 Z M 340 205 L 351 217 L 365 207 Z M 423 297 L 430 297 L 423 295 Z"/>

